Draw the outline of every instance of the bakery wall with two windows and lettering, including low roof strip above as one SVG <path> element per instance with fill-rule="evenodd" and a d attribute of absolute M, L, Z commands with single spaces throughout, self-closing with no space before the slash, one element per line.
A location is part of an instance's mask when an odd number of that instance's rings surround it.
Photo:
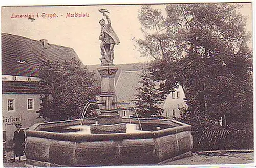
<path fill-rule="evenodd" d="M 43 122 L 36 113 L 40 108 L 37 85 L 38 82 L 2 81 L 2 128 L 7 146 L 12 145 L 15 123 L 22 123 L 26 129 L 34 123 Z"/>

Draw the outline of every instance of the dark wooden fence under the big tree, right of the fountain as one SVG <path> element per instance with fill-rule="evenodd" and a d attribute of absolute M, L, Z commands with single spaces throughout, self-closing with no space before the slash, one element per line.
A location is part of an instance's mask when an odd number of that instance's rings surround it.
<path fill-rule="evenodd" d="M 193 130 L 193 151 L 253 149 L 253 129 Z"/>

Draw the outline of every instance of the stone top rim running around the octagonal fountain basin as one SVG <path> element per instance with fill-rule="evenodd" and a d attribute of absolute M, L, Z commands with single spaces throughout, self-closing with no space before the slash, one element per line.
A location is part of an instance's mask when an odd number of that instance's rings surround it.
<path fill-rule="evenodd" d="M 125 118 L 123 118 L 125 119 Z M 48 132 L 48 131 L 40 131 L 40 126 L 47 126 L 55 123 L 64 123 L 64 122 L 79 122 L 80 119 L 76 120 L 65 120 L 65 121 L 55 121 L 55 122 L 47 122 L 47 123 L 38 123 L 31 126 L 26 134 L 28 137 L 38 137 L 38 138 L 47 138 L 47 139 L 55 139 L 59 141 L 71 141 L 71 142 L 83 142 L 83 141 L 111 141 L 111 140 L 122 140 L 122 139 L 151 139 L 158 138 L 167 135 L 174 135 L 183 131 L 191 131 L 191 126 L 185 123 L 181 123 L 176 120 L 170 119 L 145 119 L 140 118 L 143 123 L 147 123 L 145 121 L 162 121 L 166 122 L 167 125 L 170 125 L 168 122 L 172 122 L 178 124 L 179 126 L 173 128 L 167 128 L 162 130 L 150 131 L 150 132 L 136 132 L 136 133 L 108 133 L 108 134 L 67 134 L 67 133 L 59 133 L 59 132 Z M 94 121 L 95 119 L 84 119 L 88 121 Z M 127 123 L 129 122 L 122 122 Z"/>

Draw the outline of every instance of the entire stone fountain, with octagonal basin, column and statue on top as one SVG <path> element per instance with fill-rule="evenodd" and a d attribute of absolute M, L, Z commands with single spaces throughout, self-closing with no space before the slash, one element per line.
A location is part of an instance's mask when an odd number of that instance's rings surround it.
<path fill-rule="evenodd" d="M 108 24 L 102 26 L 100 111 L 96 119 L 78 119 L 33 125 L 27 131 L 25 166 L 110 166 L 154 165 L 189 156 L 193 147 L 191 126 L 167 119 L 120 118 L 115 94 L 113 64 L 117 35 L 105 11 Z M 106 39 L 105 39 L 106 38 Z M 89 132 L 67 132 L 82 120 Z M 141 124 L 143 131 L 127 131 L 129 124 Z M 79 132 L 79 131 L 78 131 Z"/>

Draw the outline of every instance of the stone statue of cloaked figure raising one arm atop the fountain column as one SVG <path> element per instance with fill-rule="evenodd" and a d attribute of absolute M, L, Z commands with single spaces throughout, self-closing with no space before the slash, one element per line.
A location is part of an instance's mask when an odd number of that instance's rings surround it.
<path fill-rule="evenodd" d="M 99 36 L 100 43 L 100 51 L 101 51 L 101 64 L 113 64 L 114 59 L 114 46 L 119 44 L 119 38 L 117 37 L 115 31 L 111 27 L 111 21 L 109 16 L 106 14 L 108 10 L 99 9 L 99 12 L 103 13 L 103 16 L 106 17 L 108 23 L 105 23 L 104 19 L 99 21 L 101 25 L 101 32 Z M 108 12 L 109 13 L 109 12 Z"/>

